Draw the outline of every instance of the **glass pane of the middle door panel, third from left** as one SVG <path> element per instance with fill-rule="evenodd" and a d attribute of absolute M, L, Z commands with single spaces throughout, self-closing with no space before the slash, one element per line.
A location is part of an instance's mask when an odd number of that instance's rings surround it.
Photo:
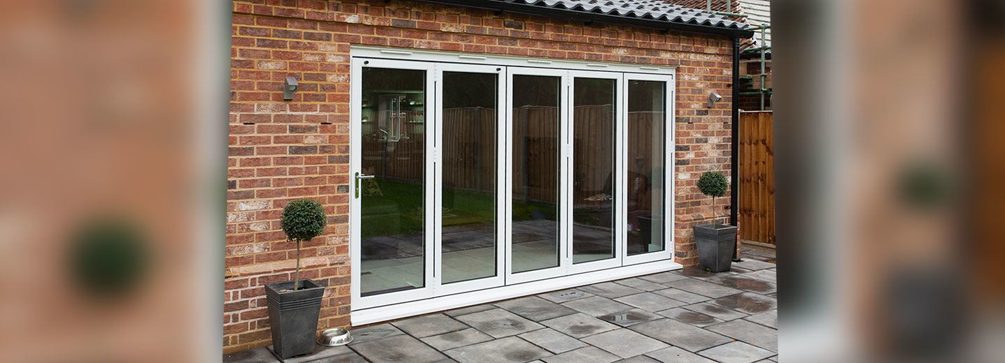
<path fill-rule="evenodd" d="M 513 270 L 559 265 L 561 77 L 514 75 Z"/>

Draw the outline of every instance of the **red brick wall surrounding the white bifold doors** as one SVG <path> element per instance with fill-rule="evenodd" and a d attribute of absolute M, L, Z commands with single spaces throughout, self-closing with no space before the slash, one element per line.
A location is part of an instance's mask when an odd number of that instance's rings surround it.
<path fill-rule="evenodd" d="M 303 249 L 301 277 L 328 286 L 320 328 L 349 325 L 351 44 L 676 66 L 676 260 L 696 263 L 690 227 L 711 200 L 694 183 L 730 167 L 727 37 L 383 0 L 234 1 L 231 31 L 225 352 L 268 344 L 262 286 L 291 280 L 295 245 L 279 215 L 295 199 L 329 214 L 325 235 Z M 287 75 L 299 79 L 291 102 Z M 708 109 L 712 90 L 725 100 Z"/>

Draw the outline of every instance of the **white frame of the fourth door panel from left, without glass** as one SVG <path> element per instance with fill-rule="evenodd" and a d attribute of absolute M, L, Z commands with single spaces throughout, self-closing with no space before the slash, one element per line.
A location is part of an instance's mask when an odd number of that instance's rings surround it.
<path fill-rule="evenodd" d="M 614 114 L 615 115 L 615 117 L 614 117 L 614 125 L 615 125 L 615 129 L 616 129 L 615 130 L 615 135 L 620 135 L 620 133 L 621 133 L 621 131 L 620 131 L 621 124 L 623 124 L 623 120 L 624 120 L 622 112 L 621 112 L 621 109 L 623 109 L 623 105 L 622 105 L 623 102 L 621 102 L 621 100 L 622 100 L 621 94 L 623 92 L 621 83 L 622 83 L 623 74 L 624 73 L 621 73 L 621 72 L 611 72 L 611 71 L 569 70 L 569 95 L 568 95 L 568 98 L 569 98 L 569 101 L 568 101 L 568 103 L 569 103 L 569 110 L 568 110 L 569 123 L 568 123 L 568 125 L 569 125 L 569 127 L 567 128 L 568 129 L 568 135 L 567 135 L 568 140 L 566 140 L 566 144 L 569 145 L 569 167 L 565 169 L 565 173 L 564 173 L 564 174 L 566 174 L 566 179 L 567 179 L 567 181 L 568 181 L 569 184 L 566 186 L 566 189 L 568 191 L 567 194 L 566 194 L 566 201 L 567 202 L 563 204 L 563 207 L 565 208 L 565 211 L 566 211 L 566 215 L 569 215 L 569 218 L 568 218 L 567 224 L 566 224 L 566 228 L 568 228 L 568 231 L 569 231 L 568 233 L 566 233 L 566 235 L 568 236 L 568 238 L 566 239 L 566 242 L 569 245 L 569 247 L 567 248 L 568 249 L 567 253 L 565 255 L 565 258 L 568 259 L 568 265 L 569 265 L 569 269 L 568 269 L 567 274 L 581 274 L 581 273 L 586 273 L 586 271 L 591 271 L 591 270 L 617 267 L 617 266 L 620 266 L 621 262 L 622 262 L 622 252 L 621 252 L 621 250 L 624 249 L 622 247 L 622 245 L 624 244 L 624 237 L 622 237 L 622 235 L 621 235 L 622 233 L 620 233 L 620 229 L 622 229 L 622 228 L 618 227 L 619 225 L 623 225 L 623 224 L 620 224 L 620 220 L 622 219 L 621 218 L 621 212 L 620 212 L 621 206 L 622 206 L 622 202 L 620 200 L 615 200 L 614 201 L 615 202 L 614 203 L 615 210 L 612 213 L 613 216 L 614 216 L 614 218 L 615 218 L 615 222 L 614 222 L 614 231 L 615 231 L 615 234 L 614 234 L 614 250 L 611 251 L 612 252 L 611 258 L 600 259 L 600 260 L 589 261 L 589 262 L 582 262 L 582 263 L 573 263 L 573 257 L 574 257 L 574 255 L 573 255 L 574 254 L 573 253 L 573 243 L 575 243 L 575 241 L 574 241 L 574 238 L 573 238 L 572 231 L 573 231 L 573 224 L 574 224 L 575 221 L 573 220 L 574 218 L 572 218 L 572 216 L 573 216 L 573 209 L 574 209 L 573 205 L 575 204 L 575 200 L 573 200 L 573 198 L 574 198 L 574 196 L 573 196 L 573 190 L 574 190 L 574 188 L 572 187 L 572 183 L 574 182 L 574 173 L 575 173 L 575 170 L 573 170 L 573 165 L 576 165 L 574 163 L 575 157 L 576 157 L 576 153 L 575 153 L 575 150 L 574 150 L 574 148 L 576 147 L 576 145 L 575 145 L 576 123 L 574 122 L 575 120 L 573 120 L 573 115 L 575 113 L 575 108 L 576 108 L 575 100 L 574 100 L 575 99 L 574 96 L 576 95 L 576 93 L 575 93 L 575 90 L 576 90 L 576 78 L 614 79 L 614 88 L 615 88 L 614 89 L 614 100 L 615 100 L 615 103 L 614 103 L 613 107 L 615 108 L 615 114 Z M 625 152 L 625 150 L 623 149 L 624 145 L 621 144 L 621 140 L 620 139 L 621 138 L 615 138 L 615 140 L 616 140 L 615 146 L 614 146 L 614 154 L 615 155 L 622 155 Z M 614 172 L 613 185 L 614 185 L 614 195 L 615 195 L 615 198 L 620 198 L 620 196 L 624 194 L 624 192 L 621 192 L 619 190 L 621 188 L 621 186 L 622 186 L 622 180 L 624 179 L 624 177 L 621 176 L 621 173 L 619 173 L 620 166 L 621 166 L 621 161 L 619 159 L 621 159 L 621 158 L 615 158 L 615 163 L 614 163 L 615 167 L 614 167 L 614 170 L 613 170 L 613 172 Z"/>

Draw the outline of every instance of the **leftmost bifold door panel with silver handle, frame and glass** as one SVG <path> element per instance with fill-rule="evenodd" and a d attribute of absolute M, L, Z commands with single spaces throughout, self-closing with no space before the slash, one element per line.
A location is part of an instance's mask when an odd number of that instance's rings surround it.
<path fill-rule="evenodd" d="M 374 305 L 430 296 L 431 65 L 373 60 L 354 68 L 359 296 Z"/>

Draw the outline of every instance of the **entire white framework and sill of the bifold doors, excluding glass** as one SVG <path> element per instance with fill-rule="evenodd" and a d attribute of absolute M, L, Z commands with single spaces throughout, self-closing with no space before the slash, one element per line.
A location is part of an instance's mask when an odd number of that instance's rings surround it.
<path fill-rule="evenodd" d="M 572 288 L 604 281 L 623 279 L 632 276 L 652 274 L 682 266 L 673 262 L 674 229 L 674 194 L 675 194 L 675 163 L 674 163 L 674 120 L 675 120 L 675 69 L 638 64 L 599 63 L 565 59 L 541 59 L 513 57 L 491 54 L 465 54 L 440 51 L 390 49 L 370 46 L 353 46 L 351 49 L 351 98 L 350 98 L 350 254 L 351 254 L 351 320 L 354 325 L 370 324 L 390 319 L 397 319 L 417 314 L 424 314 L 445 309 L 481 304 L 501 299 L 515 298 L 529 294 Z M 360 112 L 362 103 L 362 69 L 366 66 L 422 69 L 426 71 L 426 117 L 425 120 L 435 120 L 433 125 L 426 126 L 426 173 L 425 207 L 426 210 L 436 210 L 432 216 L 425 218 L 425 284 L 423 288 L 404 292 L 388 293 L 371 297 L 360 297 L 360 203 L 355 198 L 355 173 L 361 172 Z M 496 276 L 467 282 L 441 285 L 442 266 L 440 265 L 442 201 L 436 188 L 442 184 L 442 168 L 440 146 L 442 145 L 442 115 L 439 113 L 442 105 L 443 71 L 473 71 L 494 72 L 499 74 L 499 95 L 505 97 L 505 107 L 499 109 L 497 130 L 498 145 L 504 147 L 496 154 Z M 534 271 L 512 273 L 512 95 L 507 87 L 512 84 L 514 74 L 553 75 L 562 78 L 562 140 L 560 182 L 560 257 L 559 266 Z M 666 210 L 664 222 L 664 245 L 662 251 L 649 252 L 634 256 L 627 255 L 625 242 L 627 230 L 623 227 L 627 220 L 627 195 L 625 192 L 616 194 L 615 222 L 622 226 L 617 228 L 615 237 L 615 258 L 573 264 L 572 258 L 572 87 L 574 77 L 603 77 L 618 79 L 616 108 L 616 132 L 619 135 L 616 162 L 615 185 L 624 189 L 627 180 L 627 87 L 629 80 L 662 80 L 666 82 L 666 156 L 664 168 L 666 173 Z M 501 102 L 501 100 L 500 100 Z M 501 166 L 499 168 L 499 166 Z M 501 252 L 499 250 L 501 249 Z M 432 266 L 432 267 L 429 267 Z"/>

